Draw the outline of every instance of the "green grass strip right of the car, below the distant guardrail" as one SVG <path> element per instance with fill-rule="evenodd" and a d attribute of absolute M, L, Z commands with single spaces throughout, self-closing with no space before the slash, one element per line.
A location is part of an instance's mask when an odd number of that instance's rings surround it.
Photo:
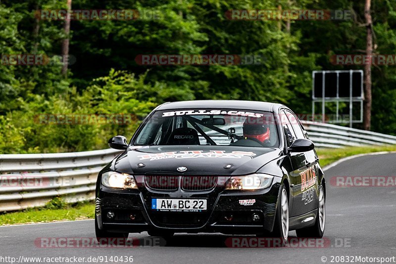
<path fill-rule="evenodd" d="M 339 159 L 370 152 L 380 152 L 380 151 L 396 151 L 396 145 L 387 146 L 366 146 L 366 147 L 347 147 L 338 149 L 329 148 L 318 148 L 316 149 L 319 159 L 320 166 L 323 168 L 330 163 L 338 161 Z"/>

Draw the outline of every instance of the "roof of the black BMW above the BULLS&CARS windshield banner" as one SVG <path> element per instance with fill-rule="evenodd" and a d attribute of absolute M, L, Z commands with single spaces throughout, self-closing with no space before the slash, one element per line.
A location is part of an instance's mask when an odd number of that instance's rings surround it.
<path fill-rule="evenodd" d="M 242 100 L 196 100 L 196 101 L 179 101 L 167 102 L 158 106 L 156 110 L 171 110 L 180 108 L 235 108 L 258 111 L 276 111 L 282 104 L 258 102 L 258 101 L 242 101 Z"/>

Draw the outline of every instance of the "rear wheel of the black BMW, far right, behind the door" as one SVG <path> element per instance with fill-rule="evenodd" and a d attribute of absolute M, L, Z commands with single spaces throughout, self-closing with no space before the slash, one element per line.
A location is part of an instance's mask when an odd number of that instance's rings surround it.
<path fill-rule="evenodd" d="M 326 223 L 326 198 L 325 198 L 325 189 L 323 185 L 320 185 L 319 190 L 319 199 L 318 199 L 318 212 L 316 215 L 316 221 L 313 226 L 297 229 L 296 233 L 298 237 L 315 237 L 321 238 L 323 237 L 323 233 L 325 231 L 325 223 Z"/>

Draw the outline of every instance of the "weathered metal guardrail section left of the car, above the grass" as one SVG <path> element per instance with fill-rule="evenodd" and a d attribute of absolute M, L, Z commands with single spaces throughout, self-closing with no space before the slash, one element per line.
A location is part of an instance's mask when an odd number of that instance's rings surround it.
<path fill-rule="evenodd" d="M 99 171 L 119 150 L 0 155 L 0 212 L 95 199 Z"/>

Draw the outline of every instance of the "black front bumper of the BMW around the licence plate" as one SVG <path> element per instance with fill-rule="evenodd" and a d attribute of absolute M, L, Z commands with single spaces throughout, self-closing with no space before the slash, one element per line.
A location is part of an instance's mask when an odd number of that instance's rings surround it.
<path fill-rule="evenodd" d="M 99 185 L 96 219 L 99 229 L 109 232 L 142 231 L 220 232 L 256 234 L 272 231 L 278 201 L 280 178 L 271 187 L 258 191 L 226 191 L 215 187 L 208 191 L 157 191 L 141 186 L 139 190 L 117 190 Z M 151 209 L 151 198 L 207 199 L 204 212 L 161 212 Z M 252 205 L 240 200 L 254 199 Z M 107 213 L 114 213 L 109 219 Z M 253 220 L 252 215 L 259 216 Z"/>

